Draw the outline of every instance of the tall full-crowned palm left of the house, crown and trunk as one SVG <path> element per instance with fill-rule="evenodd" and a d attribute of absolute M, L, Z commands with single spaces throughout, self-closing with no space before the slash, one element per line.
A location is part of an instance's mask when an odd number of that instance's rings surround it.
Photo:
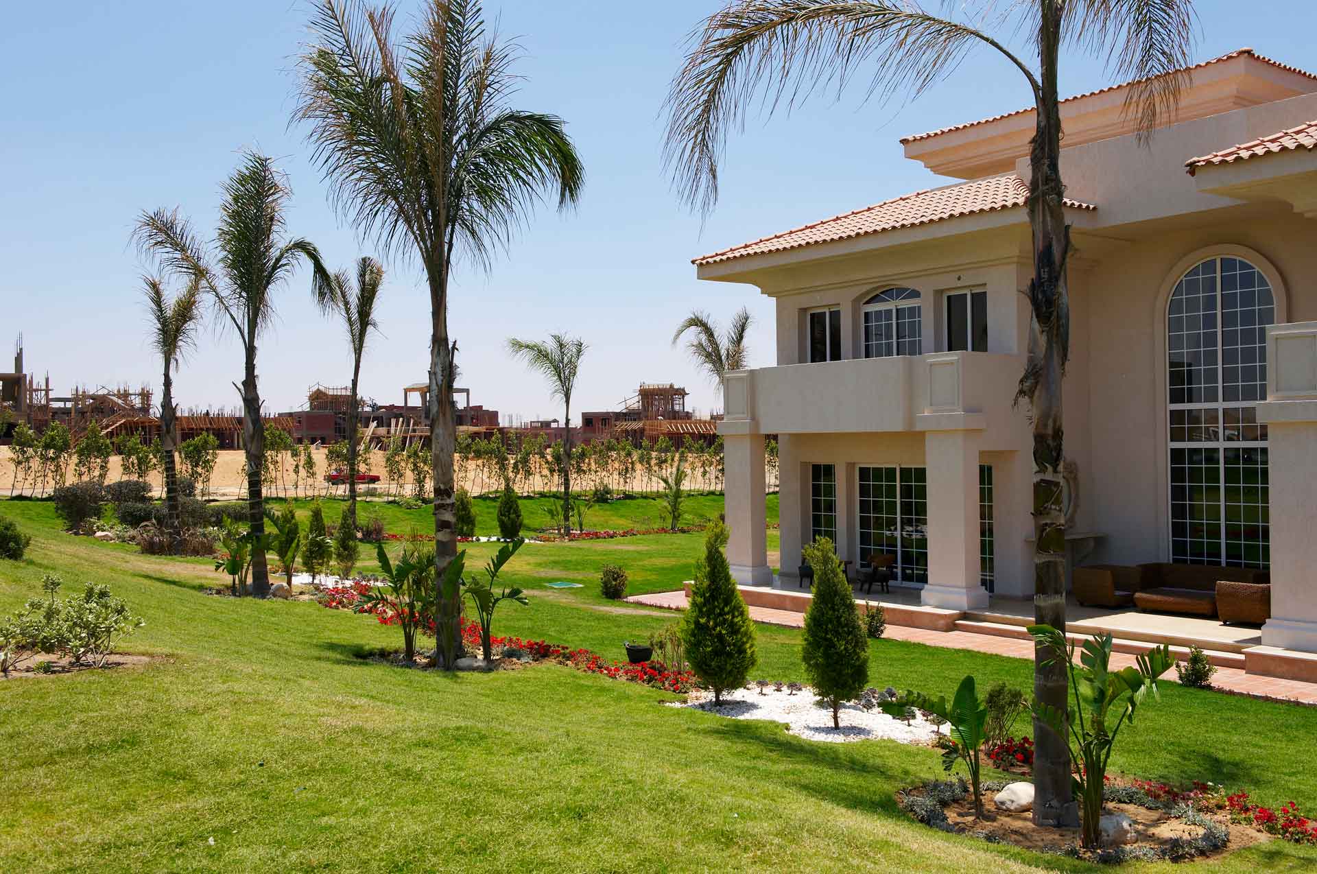
<path fill-rule="evenodd" d="M 453 358 L 448 282 L 461 251 L 489 267 L 545 195 L 574 204 L 585 172 L 556 116 L 508 107 L 516 45 L 486 33 L 478 0 L 428 0 L 400 43 L 389 7 L 316 0 L 296 117 L 333 199 L 383 249 L 414 254 L 429 291 L 431 465 L 437 640 L 456 667 L 461 602 L 444 586 L 453 527 Z"/>

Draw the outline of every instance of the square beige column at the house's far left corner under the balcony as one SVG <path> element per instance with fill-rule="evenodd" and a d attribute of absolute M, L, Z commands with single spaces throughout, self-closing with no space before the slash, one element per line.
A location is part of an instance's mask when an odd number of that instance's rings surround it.
<path fill-rule="evenodd" d="M 765 540 L 764 434 L 724 434 L 727 563 L 743 586 L 772 586 Z"/>

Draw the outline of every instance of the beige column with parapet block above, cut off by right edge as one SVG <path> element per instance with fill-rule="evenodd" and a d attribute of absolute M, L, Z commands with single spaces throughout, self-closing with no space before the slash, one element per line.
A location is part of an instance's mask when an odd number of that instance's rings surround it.
<path fill-rule="evenodd" d="M 1317 321 L 1267 329 L 1271 619 L 1262 645 L 1317 653 Z"/>

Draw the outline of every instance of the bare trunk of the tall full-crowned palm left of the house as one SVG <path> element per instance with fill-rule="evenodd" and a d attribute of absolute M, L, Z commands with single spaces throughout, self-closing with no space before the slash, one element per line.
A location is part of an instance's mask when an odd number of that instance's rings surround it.
<path fill-rule="evenodd" d="M 431 338 L 429 338 L 429 451 L 435 484 L 435 586 L 436 656 L 445 670 L 457 667 L 461 644 L 458 621 L 461 592 L 457 587 L 444 591 L 444 571 L 457 555 L 456 505 L 453 488 L 453 451 L 457 448 L 457 429 L 453 424 L 453 351 L 448 338 L 446 274 L 431 279 Z"/>

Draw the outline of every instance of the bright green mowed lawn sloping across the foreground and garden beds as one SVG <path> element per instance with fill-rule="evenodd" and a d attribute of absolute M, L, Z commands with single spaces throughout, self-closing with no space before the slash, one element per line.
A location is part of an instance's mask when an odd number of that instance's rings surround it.
<path fill-rule="evenodd" d="M 25 561 L 0 562 L 0 611 L 38 592 L 43 573 L 97 579 L 148 620 L 126 649 L 159 656 L 144 669 L 0 682 L 0 871 L 1094 870 L 907 820 L 893 795 L 940 773 L 928 749 L 810 744 L 565 667 L 375 665 L 357 656 L 398 645 L 396 629 L 312 603 L 203 595 L 220 579 L 203 562 L 70 537 L 47 503 L 0 513 L 34 537 Z M 605 602 L 591 586 L 547 590 L 536 574 L 585 579 L 601 550 L 631 544 L 632 580 L 657 584 L 644 569 L 685 562 L 689 575 L 699 542 L 527 546 L 508 579 L 531 605 L 502 607 L 495 633 L 620 657 L 624 638 L 676 616 Z M 473 545 L 469 559 L 490 550 Z M 871 652 L 872 681 L 898 688 L 950 692 L 965 673 L 1030 679 L 1019 659 L 888 640 Z M 797 630 L 760 627 L 759 654 L 756 677 L 803 679 Z M 1314 734 L 1317 711 L 1167 684 L 1113 767 L 1312 808 Z M 1212 867 L 1314 865 L 1317 852 L 1272 841 Z"/>

